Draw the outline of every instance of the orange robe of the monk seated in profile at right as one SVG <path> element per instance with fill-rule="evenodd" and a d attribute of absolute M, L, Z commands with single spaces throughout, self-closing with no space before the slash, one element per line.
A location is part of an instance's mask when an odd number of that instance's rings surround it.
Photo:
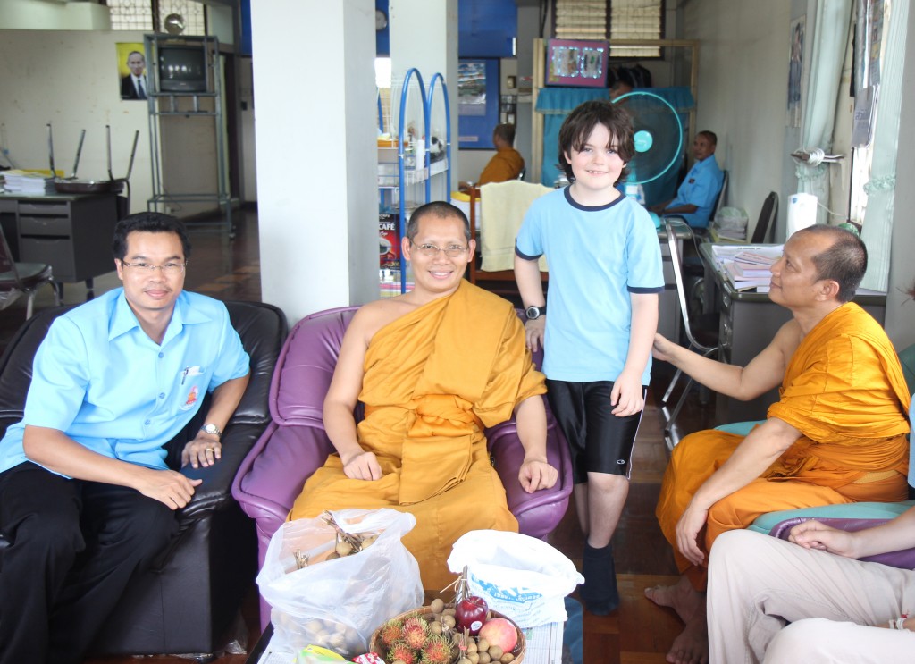
<path fill-rule="evenodd" d="M 907 498 L 910 395 L 892 344 L 872 316 L 847 303 L 821 320 L 794 351 L 769 417 L 802 436 L 758 479 L 708 511 L 703 541 L 711 551 L 727 530 L 761 514 L 858 501 Z M 676 525 L 695 491 L 721 467 L 743 436 L 709 430 L 673 448 L 655 514 L 681 572 L 697 589 L 705 570 L 676 548 Z M 707 557 L 706 557 L 707 560 Z"/>

